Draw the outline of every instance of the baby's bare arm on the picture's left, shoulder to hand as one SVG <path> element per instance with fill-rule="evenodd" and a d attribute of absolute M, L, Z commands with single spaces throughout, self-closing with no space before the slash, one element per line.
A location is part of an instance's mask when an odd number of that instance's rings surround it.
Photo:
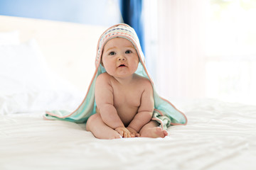
<path fill-rule="evenodd" d="M 114 108 L 113 89 L 108 74 L 100 74 L 100 76 L 97 77 L 95 84 L 95 101 L 103 122 L 110 128 L 119 132 L 122 137 L 130 137 L 129 130 L 124 127 L 124 123 L 122 123 L 116 108 Z"/>

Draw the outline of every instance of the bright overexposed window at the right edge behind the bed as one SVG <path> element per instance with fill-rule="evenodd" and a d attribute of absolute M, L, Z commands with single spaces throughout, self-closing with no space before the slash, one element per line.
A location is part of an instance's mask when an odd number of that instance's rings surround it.
<path fill-rule="evenodd" d="M 211 0 L 208 8 L 206 96 L 255 104 L 256 1 Z"/>

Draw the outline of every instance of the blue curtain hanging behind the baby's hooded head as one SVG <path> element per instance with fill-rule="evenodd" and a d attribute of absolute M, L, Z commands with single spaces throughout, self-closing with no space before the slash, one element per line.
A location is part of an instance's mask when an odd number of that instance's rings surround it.
<path fill-rule="evenodd" d="M 142 18 L 142 0 L 120 0 L 120 9 L 124 23 L 136 31 L 144 52 L 144 29 Z"/>

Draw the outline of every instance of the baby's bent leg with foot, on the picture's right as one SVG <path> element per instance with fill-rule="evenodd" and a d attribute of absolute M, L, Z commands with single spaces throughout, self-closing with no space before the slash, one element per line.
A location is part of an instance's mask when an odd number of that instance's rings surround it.
<path fill-rule="evenodd" d="M 166 137 L 168 132 L 159 127 L 159 123 L 151 120 L 139 131 L 140 137 Z"/>

